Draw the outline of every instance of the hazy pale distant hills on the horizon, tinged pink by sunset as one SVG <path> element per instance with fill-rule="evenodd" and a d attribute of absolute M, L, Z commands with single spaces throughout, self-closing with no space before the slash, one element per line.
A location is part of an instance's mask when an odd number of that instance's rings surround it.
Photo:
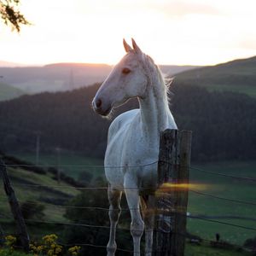
<path fill-rule="evenodd" d="M 193 66 L 160 66 L 163 73 L 173 75 Z M 43 91 L 74 90 L 84 85 L 100 83 L 112 66 L 88 63 L 56 63 L 44 67 L 0 67 L 4 82 L 30 94 Z"/>

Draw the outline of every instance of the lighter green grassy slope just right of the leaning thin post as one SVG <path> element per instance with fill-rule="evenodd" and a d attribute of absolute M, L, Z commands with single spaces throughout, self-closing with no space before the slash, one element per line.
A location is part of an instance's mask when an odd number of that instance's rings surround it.
<path fill-rule="evenodd" d="M 63 207 L 54 207 L 51 204 L 47 203 L 49 201 L 59 201 L 61 203 L 67 204 L 67 201 L 70 200 L 74 195 L 78 195 L 79 191 L 73 188 L 40 188 L 40 187 L 30 187 L 26 185 L 22 185 L 20 183 L 32 183 L 32 184 L 41 184 L 41 185 L 49 185 L 49 186 L 68 186 L 63 181 L 61 183 L 57 183 L 55 179 L 53 179 L 53 174 L 48 173 L 47 175 L 38 174 L 34 172 L 29 172 L 23 170 L 21 168 L 8 168 L 9 178 L 11 183 L 15 189 L 15 195 L 22 204 L 25 201 L 39 201 L 44 204 L 45 210 L 44 214 L 45 220 L 49 221 L 62 221 L 65 220 L 63 217 L 63 213 L 65 212 L 65 208 Z M 3 186 L 0 187 L 0 212 L 4 215 L 11 216 L 9 210 L 9 203 L 7 201 L 6 195 L 3 190 Z M 9 221 L 9 219 L 7 219 Z"/>

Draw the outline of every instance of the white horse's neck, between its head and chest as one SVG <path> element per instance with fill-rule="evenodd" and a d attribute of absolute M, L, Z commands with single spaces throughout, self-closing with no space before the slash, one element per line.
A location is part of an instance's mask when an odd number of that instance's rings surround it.
<path fill-rule="evenodd" d="M 143 131 L 150 137 L 159 137 L 160 131 L 168 126 L 171 114 L 168 107 L 166 88 L 160 71 L 155 70 L 153 79 L 149 79 L 146 96 L 139 98 Z"/>

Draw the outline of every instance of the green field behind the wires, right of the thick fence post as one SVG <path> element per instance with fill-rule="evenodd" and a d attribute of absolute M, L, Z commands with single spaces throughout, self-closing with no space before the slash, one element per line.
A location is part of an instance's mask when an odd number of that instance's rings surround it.
<path fill-rule="evenodd" d="M 209 163 L 200 166 L 204 170 L 221 172 L 235 176 L 256 177 L 256 161 L 251 162 L 222 162 Z M 190 170 L 190 182 L 199 183 L 203 186 L 197 190 L 219 197 L 230 198 L 239 201 L 253 202 L 255 204 L 256 187 L 254 182 L 247 182 L 230 177 L 221 177 L 209 173 Z M 255 218 L 256 206 L 241 203 L 214 199 L 204 195 L 197 195 L 189 192 L 188 212 L 195 212 L 210 216 L 237 216 L 245 218 Z M 243 225 L 256 229 L 255 220 L 236 218 L 212 218 L 214 220 Z M 255 236 L 255 231 L 244 230 L 224 224 L 216 224 L 188 218 L 188 230 L 206 239 L 215 239 L 215 234 L 219 233 L 225 241 L 235 244 L 243 244 L 247 238 Z"/>

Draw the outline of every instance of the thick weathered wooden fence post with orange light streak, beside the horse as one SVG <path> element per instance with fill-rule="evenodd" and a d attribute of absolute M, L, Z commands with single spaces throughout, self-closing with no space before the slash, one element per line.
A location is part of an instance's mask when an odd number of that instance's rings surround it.
<path fill-rule="evenodd" d="M 155 256 L 184 254 L 191 137 L 191 131 L 167 129 L 160 134 Z"/>

